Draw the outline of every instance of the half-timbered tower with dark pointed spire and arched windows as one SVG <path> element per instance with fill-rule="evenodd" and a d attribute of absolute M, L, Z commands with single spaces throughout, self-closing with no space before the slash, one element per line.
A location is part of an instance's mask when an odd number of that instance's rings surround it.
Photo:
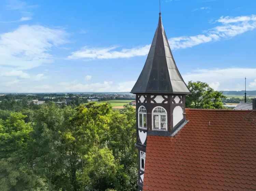
<path fill-rule="evenodd" d="M 138 190 L 142 190 L 147 136 L 174 136 L 187 123 L 185 97 L 191 93 L 173 59 L 161 12 L 145 65 L 131 93 L 136 94 Z"/>

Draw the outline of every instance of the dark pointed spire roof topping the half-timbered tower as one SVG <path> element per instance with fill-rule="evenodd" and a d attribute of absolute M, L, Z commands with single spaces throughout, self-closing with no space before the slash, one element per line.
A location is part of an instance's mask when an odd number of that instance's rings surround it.
<path fill-rule="evenodd" d="M 190 94 L 173 59 L 161 13 L 146 63 L 131 93 Z"/>

